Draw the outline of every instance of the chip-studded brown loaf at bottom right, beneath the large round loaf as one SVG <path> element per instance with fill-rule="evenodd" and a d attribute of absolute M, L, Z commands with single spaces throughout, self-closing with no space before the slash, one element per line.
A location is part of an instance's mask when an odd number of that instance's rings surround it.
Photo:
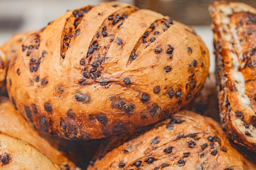
<path fill-rule="evenodd" d="M 216 121 L 185 110 L 101 155 L 88 167 L 131 169 L 254 170 L 256 165 L 231 146 Z"/>

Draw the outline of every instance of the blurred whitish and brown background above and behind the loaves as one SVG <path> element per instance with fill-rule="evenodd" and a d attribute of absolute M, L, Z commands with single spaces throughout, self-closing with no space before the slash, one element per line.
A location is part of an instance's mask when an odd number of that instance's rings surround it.
<path fill-rule="evenodd" d="M 0 0 L 0 45 L 14 33 L 40 29 L 69 9 L 107 0 Z M 210 71 L 214 71 L 213 35 L 208 6 L 215 0 L 117 0 L 151 9 L 192 26 L 209 49 Z M 234 0 L 233 0 L 234 1 Z M 256 0 L 240 0 L 256 7 Z"/>

